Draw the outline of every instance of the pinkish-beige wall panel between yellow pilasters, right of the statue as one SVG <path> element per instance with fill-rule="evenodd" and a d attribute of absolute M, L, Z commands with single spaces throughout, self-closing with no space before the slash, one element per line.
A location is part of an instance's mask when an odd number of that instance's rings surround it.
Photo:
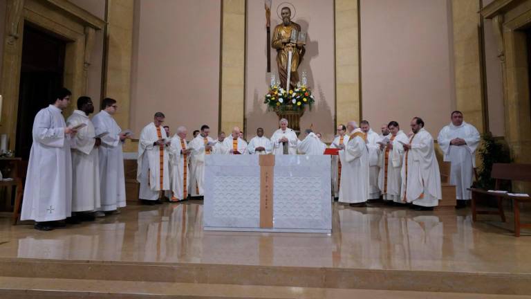
<path fill-rule="evenodd" d="M 461 0 L 459 0 L 461 1 Z M 362 0 L 362 112 L 373 129 L 414 116 L 436 137 L 455 107 L 447 0 Z"/>

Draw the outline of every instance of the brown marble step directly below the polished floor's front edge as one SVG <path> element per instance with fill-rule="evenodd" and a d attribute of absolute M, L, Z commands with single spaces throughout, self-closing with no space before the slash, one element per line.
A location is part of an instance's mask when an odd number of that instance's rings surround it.
<path fill-rule="evenodd" d="M 0 258 L 0 276 L 531 295 L 531 274 Z M 0 297 L 2 298 L 2 297 Z"/>

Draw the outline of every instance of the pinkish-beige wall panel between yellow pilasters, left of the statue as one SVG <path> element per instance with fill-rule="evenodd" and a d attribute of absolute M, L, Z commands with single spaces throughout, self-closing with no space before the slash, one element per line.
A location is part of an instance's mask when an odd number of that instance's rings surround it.
<path fill-rule="evenodd" d="M 206 123 L 216 132 L 221 1 L 136 2 L 131 129 L 138 137 L 162 111 L 173 129 L 185 125 L 191 135 Z"/>

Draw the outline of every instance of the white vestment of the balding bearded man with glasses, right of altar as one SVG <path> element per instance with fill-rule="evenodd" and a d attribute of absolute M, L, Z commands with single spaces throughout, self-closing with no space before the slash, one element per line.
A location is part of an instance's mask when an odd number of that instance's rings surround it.
<path fill-rule="evenodd" d="M 440 172 L 434 150 L 434 138 L 424 128 L 409 139 L 411 149 L 402 162 L 402 201 L 417 206 L 438 206 L 442 199 Z"/>

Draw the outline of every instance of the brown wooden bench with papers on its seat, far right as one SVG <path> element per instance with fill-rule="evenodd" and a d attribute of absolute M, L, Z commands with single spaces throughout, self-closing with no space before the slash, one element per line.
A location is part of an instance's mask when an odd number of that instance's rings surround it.
<path fill-rule="evenodd" d="M 491 172 L 492 179 L 496 180 L 494 190 L 501 188 L 501 181 L 531 181 L 531 164 L 516 163 L 494 163 Z M 487 190 L 472 188 L 472 221 L 476 221 L 477 215 L 499 215 L 501 221 L 505 222 L 505 213 L 503 212 L 503 199 L 512 200 L 514 208 L 514 235 L 520 237 L 521 228 L 531 228 L 531 224 L 521 224 L 520 222 L 520 205 L 519 203 L 531 202 L 531 197 L 514 197 L 507 193 L 488 192 Z M 494 197 L 498 204 L 498 210 L 477 210 L 476 203 L 478 199 L 485 197 Z"/>

